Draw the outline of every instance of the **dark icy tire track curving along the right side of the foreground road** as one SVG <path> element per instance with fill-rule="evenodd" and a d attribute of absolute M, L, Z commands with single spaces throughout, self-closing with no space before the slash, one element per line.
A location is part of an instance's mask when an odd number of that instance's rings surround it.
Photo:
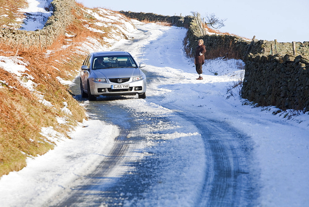
<path fill-rule="evenodd" d="M 252 167 L 252 142 L 228 124 L 178 112 L 200 130 L 207 172 L 196 206 L 254 206 L 259 197 L 258 172 Z"/>

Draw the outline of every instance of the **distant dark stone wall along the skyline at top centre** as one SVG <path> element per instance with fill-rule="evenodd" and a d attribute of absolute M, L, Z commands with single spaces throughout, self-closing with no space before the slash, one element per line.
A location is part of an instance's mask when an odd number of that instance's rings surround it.
<path fill-rule="evenodd" d="M 167 22 L 177 27 L 184 26 L 183 16 L 164 16 L 154 13 L 132 12 L 132 11 L 120 11 L 120 13 L 131 19 L 136 19 L 139 21 L 147 20 L 150 22 Z"/>

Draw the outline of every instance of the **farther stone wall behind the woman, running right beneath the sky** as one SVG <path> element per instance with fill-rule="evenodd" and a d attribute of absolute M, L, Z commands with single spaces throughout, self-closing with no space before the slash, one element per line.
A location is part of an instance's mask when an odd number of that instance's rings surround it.
<path fill-rule="evenodd" d="M 186 16 L 184 19 L 184 25 L 188 28 L 188 48 L 194 54 L 197 41 L 199 39 L 204 40 L 207 54 L 211 51 L 221 49 L 223 51 L 234 53 L 234 57 L 243 59 L 244 55 L 247 54 L 248 47 L 252 40 L 239 37 L 237 35 L 226 35 L 226 34 L 206 34 L 201 35 L 201 32 L 197 26 L 197 23 L 192 16 Z M 273 47 L 272 47 L 273 45 Z M 309 42 L 295 42 L 296 55 L 302 55 L 303 57 L 309 58 Z M 280 54 L 284 56 L 286 54 L 293 55 L 293 46 L 290 42 L 275 42 L 267 40 L 254 39 L 248 54 Z M 207 55 L 206 54 L 206 55 Z"/>

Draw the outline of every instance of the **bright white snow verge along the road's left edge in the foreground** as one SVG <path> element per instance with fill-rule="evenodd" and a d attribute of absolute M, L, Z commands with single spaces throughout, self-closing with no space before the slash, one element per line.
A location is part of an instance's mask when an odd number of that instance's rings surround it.
<path fill-rule="evenodd" d="M 70 134 L 71 139 L 50 127 L 41 133 L 57 146 L 42 156 L 28 158 L 23 170 L 1 177 L 1 206 L 43 206 L 63 187 L 70 187 L 71 182 L 90 173 L 119 134 L 115 126 L 99 120 L 83 121 Z"/>

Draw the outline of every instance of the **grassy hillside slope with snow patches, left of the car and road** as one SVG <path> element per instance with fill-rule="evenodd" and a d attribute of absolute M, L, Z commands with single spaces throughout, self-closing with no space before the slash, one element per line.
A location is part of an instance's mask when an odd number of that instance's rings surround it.
<path fill-rule="evenodd" d="M 1 20 L 27 5 L 9 3 L 0 10 Z M 72 10 L 73 23 L 51 46 L 0 44 L 0 176 L 22 169 L 27 157 L 44 154 L 57 140 L 70 139 L 67 132 L 87 118 L 84 107 L 68 90 L 84 56 L 108 50 L 134 29 L 117 12 L 88 9 L 82 4 L 77 8 Z M 23 22 L 2 27 L 16 29 L 19 24 Z"/>

